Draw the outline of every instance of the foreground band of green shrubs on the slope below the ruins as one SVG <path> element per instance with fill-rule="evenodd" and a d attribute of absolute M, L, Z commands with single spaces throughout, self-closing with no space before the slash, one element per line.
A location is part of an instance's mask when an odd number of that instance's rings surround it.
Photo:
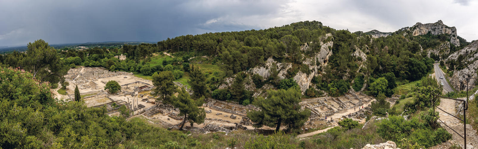
<path fill-rule="evenodd" d="M 254 131 L 187 135 L 191 132 L 154 127 L 141 118 L 128 121 L 124 117 L 109 117 L 106 107 L 86 107 L 83 101 L 64 103 L 53 98 L 49 83 L 34 80 L 31 73 L 23 70 L 2 67 L 0 72 L 3 149 L 349 149 L 386 140 L 397 142 L 402 149 L 418 149 L 451 138 L 445 129 L 438 128 L 432 117 L 437 113 L 426 110 L 430 106 L 426 104 L 407 106 L 411 113 L 421 111 L 409 120 L 391 113 L 389 119 L 361 129 L 356 121 L 345 119 L 338 123 L 340 127 L 303 140 L 281 131 L 267 137 Z M 421 85 L 429 81 L 422 80 Z M 431 88 L 418 87 L 416 93 L 420 94 L 413 95 L 418 99 L 415 104 L 423 102 L 429 94 L 426 90 Z"/>

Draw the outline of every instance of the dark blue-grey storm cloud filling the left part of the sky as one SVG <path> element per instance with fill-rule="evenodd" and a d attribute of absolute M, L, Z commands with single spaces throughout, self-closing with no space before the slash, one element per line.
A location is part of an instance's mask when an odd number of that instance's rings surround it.
<path fill-rule="evenodd" d="M 205 32 L 258 29 L 248 17 L 282 14 L 287 1 L 1 1 L 0 45 L 151 41 Z M 257 19 L 256 19 L 257 20 Z"/>

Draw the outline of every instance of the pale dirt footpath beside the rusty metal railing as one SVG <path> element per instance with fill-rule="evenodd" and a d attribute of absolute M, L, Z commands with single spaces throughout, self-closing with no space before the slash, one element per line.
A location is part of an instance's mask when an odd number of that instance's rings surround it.
<path fill-rule="evenodd" d="M 448 113 L 451 113 L 451 114 L 456 113 L 455 100 L 441 98 L 441 103 L 440 103 L 440 106 L 438 106 L 438 107 L 445 110 Z M 443 112 L 440 109 L 435 109 L 435 111 L 440 113 L 440 120 L 442 120 L 446 125 L 453 128 L 453 130 L 460 133 L 460 135 L 464 134 L 463 123 L 460 123 L 459 119 L 446 114 L 445 112 Z M 440 123 L 440 125 L 443 128 L 445 128 L 448 132 L 450 132 L 450 134 L 453 135 L 453 138 L 452 138 L 451 142 L 453 142 L 455 144 L 463 145 L 463 143 L 464 143 L 463 138 L 461 138 L 458 134 L 456 134 L 456 132 L 454 132 L 452 129 L 446 127 L 439 120 L 438 120 L 438 122 Z M 478 136 L 477 136 L 477 131 L 474 130 L 473 128 L 471 128 L 471 125 L 467 124 L 467 148 L 469 148 L 468 146 L 470 146 L 470 145 L 475 147 L 475 148 L 478 147 Z"/>

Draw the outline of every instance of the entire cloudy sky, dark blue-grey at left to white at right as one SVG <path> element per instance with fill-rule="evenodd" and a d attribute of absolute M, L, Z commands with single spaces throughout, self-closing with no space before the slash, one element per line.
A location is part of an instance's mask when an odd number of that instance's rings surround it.
<path fill-rule="evenodd" d="M 0 0 L 0 46 L 158 42 L 206 32 L 321 21 L 350 32 L 394 32 L 442 20 L 478 39 L 476 0 Z"/>

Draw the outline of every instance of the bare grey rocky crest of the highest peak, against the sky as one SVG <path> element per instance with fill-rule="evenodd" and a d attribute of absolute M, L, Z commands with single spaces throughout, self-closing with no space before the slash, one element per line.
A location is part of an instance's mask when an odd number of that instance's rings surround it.
<path fill-rule="evenodd" d="M 435 23 L 426 24 L 417 22 L 415 25 L 412 26 L 412 30 L 413 36 L 424 35 L 428 32 L 430 32 L 432 35 L 450 34 L 450 43 L 454 44 L 455 46 L 460 46 L 460 41 L 458 40 L 458 36 L 456 35 L 456 28 L 446 26 L 441 20 L 438 20 Z"/>

